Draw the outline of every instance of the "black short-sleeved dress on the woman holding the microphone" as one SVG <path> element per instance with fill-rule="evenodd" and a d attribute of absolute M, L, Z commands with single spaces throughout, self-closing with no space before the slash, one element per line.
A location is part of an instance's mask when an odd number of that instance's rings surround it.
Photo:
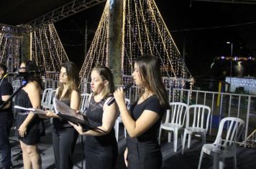
<path fill-rule="evenodd" d="M 162 153 L 160 145 L 157 143 L 157 130 L 160 127 L 163 113 L 165 110 L 161 107 L 159 100 L 155 95 L 147 98 L 144 102 L 132 105 L 130 112 L 133 120 L 137 120 L 144 110 L 156 112 L 160 118 L 139 137 L 127 136 L 128 148 L 128 168 L 157 169 L 162 165 Z"/>

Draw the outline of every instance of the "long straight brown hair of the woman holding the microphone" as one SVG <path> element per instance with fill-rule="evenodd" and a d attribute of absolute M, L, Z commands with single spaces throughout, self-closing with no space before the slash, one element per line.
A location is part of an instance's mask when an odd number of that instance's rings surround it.
<path fill-rule="evenodd" d="M 169 109 L 168 92 L 165 90 L 165 85 L 160 74 L 159 60 L 152 55 L 143 55 L 135 59 L 135 62 L 137 63 L 145 87 L 157 96 L 163 108 Z"/>

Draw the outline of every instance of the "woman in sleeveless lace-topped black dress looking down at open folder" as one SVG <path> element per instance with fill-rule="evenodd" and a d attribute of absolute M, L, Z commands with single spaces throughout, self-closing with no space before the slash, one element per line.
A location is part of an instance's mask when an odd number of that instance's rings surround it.
<path fill-rule="evenodd" d="M 73 126 L 79 134 L 86 135 L 86 168 L 112 169 L 116 165 L 117 143 L 114 135 L 114 123 L 117 117 L 116 105 L 106 103 L 113 97 L 113 75 L 108 67 L 94 67 L 91 72 L 91 90 L 93 92 L 86 117 L 91 125 L 101 130 L 83 131 L 79 125 Z"/>

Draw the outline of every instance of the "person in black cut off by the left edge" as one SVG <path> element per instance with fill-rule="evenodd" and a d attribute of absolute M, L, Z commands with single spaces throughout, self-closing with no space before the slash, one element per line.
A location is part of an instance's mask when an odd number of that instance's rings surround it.
<path fill-rule="evenodd" d="M 4 64 L 0 64 L 0 105 L 2 105 L 4 101 L 8 100 L 13 93 L 12 84 L 10 84 L 8 79 L 5 78 L 6 75 L 6 66 Z M 0 110 L 0 168 L 4 169 L 12 167 L 9 135 L 13 119 L 11 100 Z"/>

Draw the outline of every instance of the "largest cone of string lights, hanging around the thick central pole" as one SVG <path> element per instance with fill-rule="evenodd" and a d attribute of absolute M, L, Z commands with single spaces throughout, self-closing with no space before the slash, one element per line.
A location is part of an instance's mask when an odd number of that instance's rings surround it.
<path fill-rule="evenodd" d="M 170 87 L 193 86 L 193 77 L 186 67 L 154 0 L 124 1 L 124 29 L 122 49 L 122 80 L 132 81 L 134 59 L 142 54 L 153 54 L 161 61 L 163 82 Z M 106 2 L 98 29 L 88 51 L 80 76 L 87 81 L 92 67 L 107 64 L 107 35 L 109 1 Z M 175 98 L 178 98 L 177 96 Z"/>

